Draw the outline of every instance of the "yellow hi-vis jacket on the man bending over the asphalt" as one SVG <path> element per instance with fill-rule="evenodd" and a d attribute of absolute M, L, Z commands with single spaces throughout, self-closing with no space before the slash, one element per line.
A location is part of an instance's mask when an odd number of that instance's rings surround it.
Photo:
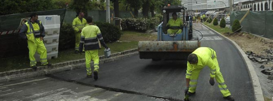
<path fill-rule="evenodd" d="M 212 59 L 216 58 L 216 52 L 208 47 L 199 47 L 192 53 L 197 55 L 198 62 L 195 65 L 187 62 L 186 78 L 191 77 L 191 73 L 194 70 L 194 68 L 204 68 L 204 66 L 208 66 L 211 69 L 210 76 L 214 78 L 216 72 L 216 65 Z"/>

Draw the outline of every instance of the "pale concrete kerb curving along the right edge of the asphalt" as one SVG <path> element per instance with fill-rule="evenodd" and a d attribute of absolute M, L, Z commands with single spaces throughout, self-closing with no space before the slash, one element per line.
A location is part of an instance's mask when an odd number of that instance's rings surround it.
<path fill-rule="evenodd" d="M 199 21 L 198 21 L 199 22 Z M 199 22 L 201 23 L 201 22 Z M 205 24 L 201 23 L 202 25 L 204 25 L 205 27 L 207 27 Z M 237 49 L 238 52 L 241 53 L 241 57 L 244 60 L 244 63 L 247 65 L 247 69 L 248 69 L 248 73 L 250 74 L 251 80 L 252 80 L 252 86 L 254 88 L 254 95 L 255 95 L 255 101 L 265 101 L 264 96 L 263 96 L 263 92 L 261 89 L 261 84 L 260 81 L 258 79 L 258 76 L 254 70 L 253 65 L 251 64 L 251 61 L 248 59 L 247 55 L 244 53 L 244 51 L 241 49 L 241 47 L 235 43 L 233 40 L 229 39 L 228 37 L 222 35 L 221 33 L 218 33 L 217 31 L 211 29 L 210 27 L 207 27 L 208 29 L 214 31 L 215 33 L 221 35 L 222 37 L 224 37 L 225 39 L 227 39 L 229 42 L 231 42 Z"/>

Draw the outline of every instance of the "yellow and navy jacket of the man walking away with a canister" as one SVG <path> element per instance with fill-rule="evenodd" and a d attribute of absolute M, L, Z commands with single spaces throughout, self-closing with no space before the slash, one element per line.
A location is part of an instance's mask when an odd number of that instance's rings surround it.
<path fill-rule="evenodd" d="M 83 45 L 84 50 L 99 49 L 99 41 L 105 48 L 107 47 L 103 40 L 103 36 L 99 30 L 99 27 L 95 25 L 87 25 L 83 28 L 81 33 L 79 51 L 83 50 Z"/>

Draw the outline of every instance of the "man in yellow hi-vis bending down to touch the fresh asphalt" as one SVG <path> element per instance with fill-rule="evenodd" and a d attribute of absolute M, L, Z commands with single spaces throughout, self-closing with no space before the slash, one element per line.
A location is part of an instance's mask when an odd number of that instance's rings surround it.
<path fill-rule="evenodd" d="M 195 94 L 199 73 L 204 66 L 208 66 L 211 72 L 210 84 L 212 86 L 214 85 L 215 78 L 223 97 L 227 100 L 234 101 L 230 91 L 227 89 L 222 73 L 220 72 L 216 52 L 213 49 L 208 47 L 197 48 L 188 56 L 187 61 L 185 93 L 187 93 L 188 96 Z"/>

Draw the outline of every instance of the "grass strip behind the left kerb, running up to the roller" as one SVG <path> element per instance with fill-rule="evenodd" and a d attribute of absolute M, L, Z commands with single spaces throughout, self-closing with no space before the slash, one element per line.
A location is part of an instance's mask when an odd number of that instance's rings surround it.
<path fill-rule="evenodd" d="M 114 43 L 106 43 L 111 49 L 111 53 L 122 52 L 129 49 L 137 48 L 138 41 L 151 41 L 157 38 L 156 35 L 150 35 L 145 33 L 133 32 L 133 31 L 122 31 L 120 41 Z M 99 56 L 104 55 L 104 48 L 99 49 Z M 78 59 L 84 59 L 85 55 L 75 54 L 74 49 L 69 49 L 65 51 L 60 51 L 58 53 L 58 58 L 53 58 L 49 60 L 50 63 L 60 63 L 66 61 L 73 61 Z M 13 56 L 8 58 L 0 58 L 0 72 L 11 71 L 29 68 L 29 58 L 28 55 Z M 39 65 L 39 63 L 37 63 Z"/>

